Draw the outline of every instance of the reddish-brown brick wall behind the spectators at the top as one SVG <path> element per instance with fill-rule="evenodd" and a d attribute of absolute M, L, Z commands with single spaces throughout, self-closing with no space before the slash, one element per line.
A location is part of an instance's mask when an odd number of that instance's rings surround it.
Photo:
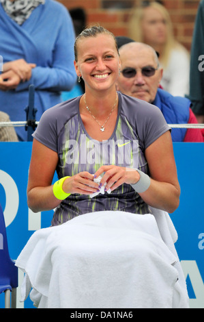
<path fill-rule="evenodd" d="M 87 14 L 87 25 L 100 23 L 115 36 L 127 36 L 127 21 L 133 3 L 141 0 L 58 0 L 66 8 L 81 7 Z M 173 22 L 175 37 L 188 50 L 200 0 L 163 0 Z"/>

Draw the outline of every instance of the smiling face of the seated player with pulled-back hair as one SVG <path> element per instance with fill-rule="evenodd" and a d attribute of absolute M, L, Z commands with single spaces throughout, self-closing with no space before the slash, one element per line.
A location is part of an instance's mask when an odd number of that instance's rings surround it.
<path fill-rule="evenodd" d="M 119 77 L 119 55 L 111 35 L 81 38 L 77 44 L 78 61 L 74 62 L 77 75 L 84 79 L 86 88 L 106 90 L 115 86 Z"/>

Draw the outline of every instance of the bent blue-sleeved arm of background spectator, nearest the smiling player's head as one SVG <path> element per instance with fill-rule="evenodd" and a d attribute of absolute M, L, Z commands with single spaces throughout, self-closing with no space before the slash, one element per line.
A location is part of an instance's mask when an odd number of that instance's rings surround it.
<path fill-rule="evenodd" d="M 74 69 L 74 30 L 67 12 L 61 15 L 61 28 L 56 37 L 52 55 L 32 69 L 29 82 L 21 82 L 16 90 L 25 90 L 33 84 L 37 90 L 71 90 L 76 84 Z"/>

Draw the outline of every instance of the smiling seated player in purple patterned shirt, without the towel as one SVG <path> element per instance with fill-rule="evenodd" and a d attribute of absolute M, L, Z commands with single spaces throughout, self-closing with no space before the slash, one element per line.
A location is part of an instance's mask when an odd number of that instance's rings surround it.
<path fill-rule="evenodd" d="M 42 115 L 33 134 L 29 208 L 56 208 L 52 225 L 100 210 L 146 214 L 152 206 L 173 212 L 180 188 L 162 112 L 117 92 L 119 53 L 106 29 L 85 29 L 76 38 L 74 53 L 85 95 Z M 59 180 L 53 185 L 55 170 Z"/>

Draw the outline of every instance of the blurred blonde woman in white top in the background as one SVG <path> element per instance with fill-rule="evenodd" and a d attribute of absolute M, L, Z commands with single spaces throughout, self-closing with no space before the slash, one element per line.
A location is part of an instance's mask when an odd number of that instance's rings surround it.
<path fill-rule="evenodd" d="M 133 10 L 129 22 L 130 38 L 145 42 L 160 54 L 164 69 L 161 86 L 174 96 L 189 92 L 190 55 L 173 36 L 169 12 L 157 2 L 145 2 Z"/>

